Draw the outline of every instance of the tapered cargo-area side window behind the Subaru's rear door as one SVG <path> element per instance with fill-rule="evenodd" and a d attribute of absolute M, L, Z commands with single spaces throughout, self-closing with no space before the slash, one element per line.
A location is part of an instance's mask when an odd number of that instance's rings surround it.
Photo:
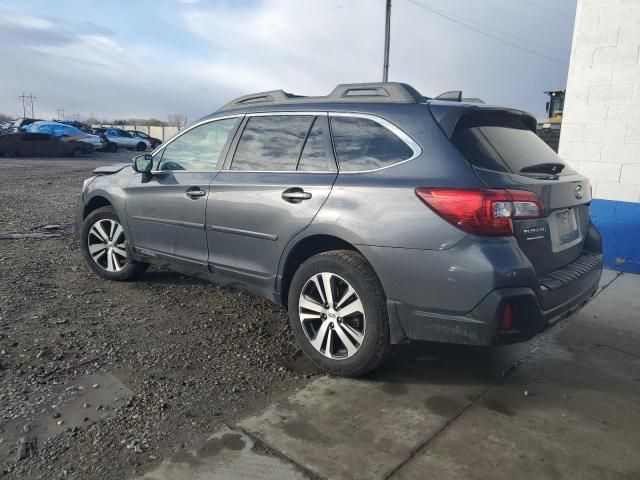
<path fill-rule="evenodd" d="M 401 138 L 369 118 L 331 117 L 331 135 L 343 172 L 374 170 L 413 156 Z"/>

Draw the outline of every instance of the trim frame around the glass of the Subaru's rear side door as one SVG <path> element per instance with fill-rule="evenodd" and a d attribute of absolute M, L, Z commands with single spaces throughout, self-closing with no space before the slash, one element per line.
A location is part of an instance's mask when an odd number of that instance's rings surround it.
<path fill-rule="evenodd" d="M 313 116 L 313 117 L 317 117 L 317 119 L 319 119 L 320 121 L 322 121 L 322 136 L 324 138 L 324 144 L 325 144 L 325 154 L 327 155 L 327 170 L 306 170 L 306 171 L 300 171 L 300 170 L 232 170 L 231 169 L 231 164 L 233 163 L 233 156 L 236 153 L 236 150 L 238 148 L 238 143 L 240 143 L 240 138 L 242 137 L 242 133 L 244 132 L 247 123 L 249 122 L 249 119 L 251 117 L 274 117 L 274 116 Z M 296 173 L 296 174 L 337 174 L 338 173 L 338 162 L 336 160 L 335 157 L 335 153 L 333 152 L 333 142 L 331 140 L 331 134 L 329 133 L 329 116 L 328 116 L 328 112 L 320 112 L 320 111 L 300 111 L 300 112 L 295 112 L 295 111 L 285 111 L 285 112 L 275 112 L 275 111 L 271 111 L 271 112 L 254 112 L 254 113 L 247 113 L 244 115 L 244 119 L 242 120 L 242 122 L 240 123 L 239 127 L 238 127 L 238 131 L 236 132 L 236 138 L 234 138 L 233 143 L 231 144 L 231 146 L 229 147 L 229 151 L 227 152 L 227 158 L 225 159 L 223 168 L 222 168 L 222 172 L 231 172 L 231 173 Z M 313 127 L 313 122 L 311 123 L 311 127 Z M 307 137 L 308 134 L 310 133 L 310 130 L 307 132 Z M 305 137 L 305 143 L 306 143 L 306 139 L 307 137 Z M 302 147 L 302 150 L 300 151 L 300 153 L 298 154 L 298 156 L 300 156 L 302 154 L 302 151 L 304 150 L 304 145 Z M 298 160 L 296 161 L 296 168 L 298 166 L 298 162 L 300 161 L 300 158 L 298 158 Z M 331 168 L 333 167 L 333 168 Z"/>

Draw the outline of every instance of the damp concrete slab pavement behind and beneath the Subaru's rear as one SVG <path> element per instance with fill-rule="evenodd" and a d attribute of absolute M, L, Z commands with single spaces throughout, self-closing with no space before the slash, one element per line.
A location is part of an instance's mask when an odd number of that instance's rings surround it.
<path fill-rule="evenodd" d="M 602 285 L 525 344 L 410 345 L 365 379 L 319 377 L 235 426 L 244 457 L 223 445 L 197 474 L 176 458 L 145 478 L 638 479 L 640 276 Z M 265 461 L 248 441 L 275 470 L 234 476 Z"/>

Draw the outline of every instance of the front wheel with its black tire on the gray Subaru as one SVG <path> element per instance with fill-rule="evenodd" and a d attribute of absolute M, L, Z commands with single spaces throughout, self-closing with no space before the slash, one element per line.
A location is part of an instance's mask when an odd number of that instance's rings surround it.
<path fill-rule="evenodd" d="M 128 243 L 113 207 L 94 210 L 80 229 L 80 249 L 85 260 L 91 270 L 107 280 L 131 280 L 148 268 L 148 264 L 131 258 Z"/>

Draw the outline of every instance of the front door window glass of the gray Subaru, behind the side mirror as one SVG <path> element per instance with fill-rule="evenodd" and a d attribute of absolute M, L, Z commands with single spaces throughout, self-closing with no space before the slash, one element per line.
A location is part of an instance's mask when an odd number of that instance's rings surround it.
<path fill-rule="evenodd" d="M 180 135 L 163 149 L 159 170 L 215 169 L 237 121 L 237 118 L 215 120 Z"/>

